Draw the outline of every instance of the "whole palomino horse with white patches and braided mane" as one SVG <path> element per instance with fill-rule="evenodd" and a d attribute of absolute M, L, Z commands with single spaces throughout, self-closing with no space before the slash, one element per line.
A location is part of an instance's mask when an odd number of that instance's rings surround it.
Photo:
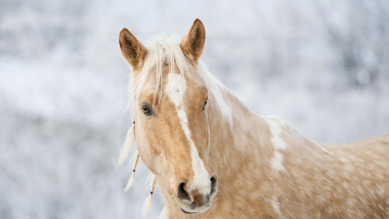
<path fill-rule="evenodd" d="M 159 184 L 165 200 L 161 217 L 389 218 L 389 135 L 321 144 L 251 112 L 199 60 L 199 19 L 181 42 L 143 46 L 124 28 L 119 43 L 135 121 L 119 164 L 136 141 L 135 166 L 140 157 L 151 194 Z"/>

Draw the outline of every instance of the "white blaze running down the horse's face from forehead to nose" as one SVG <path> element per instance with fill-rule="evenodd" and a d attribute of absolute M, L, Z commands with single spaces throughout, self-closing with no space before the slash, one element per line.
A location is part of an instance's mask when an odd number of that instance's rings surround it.
<path fill-rule="evenodd" d="M 193 182 L 189 187 L 189 191 L 198 189 L 200 193 L 210 193 L 211 183 L 209 180 L 209 174 L 205 170 L 204 163 L 198 154 L 195 142 L 191 138 L 191 131 L 188 127 L 188 119 L 184 110 L 184 95 L 186 91 L 185 79 L 179 74 L 170 73 L 168 74 L 168 83 L 166 85 L 166 95 L 174 103 L 177 110 L 178 118 L 182 126 L 182 130 L 189 142 L 191 148 L 191 158 L 193 167 Z"/>

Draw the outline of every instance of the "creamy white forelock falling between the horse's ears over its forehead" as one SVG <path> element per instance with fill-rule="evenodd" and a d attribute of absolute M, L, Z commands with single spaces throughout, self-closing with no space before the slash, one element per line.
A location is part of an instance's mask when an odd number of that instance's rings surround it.
<path fill-rule="evenodd" d="M 144 60 L 142 69 L 137 72 L 137 79 L 132 79 L 129 86 L 130 103 L 137 102 L 142 92 L 142 88 L 147 78 L 155 78 L 154 100 L 156 99 L 159 88 L 163 86 L 163 69 L 169 68 L 169 73 L 178 73 L 184 76 L 184 72 L 189 72 L 192 65 L 189 64 L 182 49 L 180 40 L 177 35 L 168 36 L 164 33 L 157 34 L 145 43 L 147 55 Z M 130 106 L 128 107 L 131 107 Z M 153 102 L 154 105 L 154 102 Z"/>

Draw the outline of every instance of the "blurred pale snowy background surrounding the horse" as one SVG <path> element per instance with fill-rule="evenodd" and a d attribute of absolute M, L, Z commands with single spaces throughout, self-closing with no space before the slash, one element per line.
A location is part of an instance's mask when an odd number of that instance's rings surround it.
<path fill-rule="evenodd" d="M 252 111 L 325 143 L 389 132 L 387 0 L 1 0 L 0 218 L 141 217 L 146 168 L 126 194 L 132 161 L 116 168 L 132 122 L 118 35 L 195 18 L 203 62 Z"/>

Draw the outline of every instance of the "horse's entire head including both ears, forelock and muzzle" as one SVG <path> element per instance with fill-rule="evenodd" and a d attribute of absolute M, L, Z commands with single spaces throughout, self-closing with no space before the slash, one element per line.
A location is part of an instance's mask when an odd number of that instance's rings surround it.
<path fill-rule="evenodd" d="M 180 44 L 146 49 L 128 30 L 119 42 L 134 69 L 135 138 L 142 161 L 165 181 L 182 212 L 208 210 L 217 177 L 208 165 L 208 91 L 196 71 L 205 42 L 202 22 L 196 19 Z"/>

